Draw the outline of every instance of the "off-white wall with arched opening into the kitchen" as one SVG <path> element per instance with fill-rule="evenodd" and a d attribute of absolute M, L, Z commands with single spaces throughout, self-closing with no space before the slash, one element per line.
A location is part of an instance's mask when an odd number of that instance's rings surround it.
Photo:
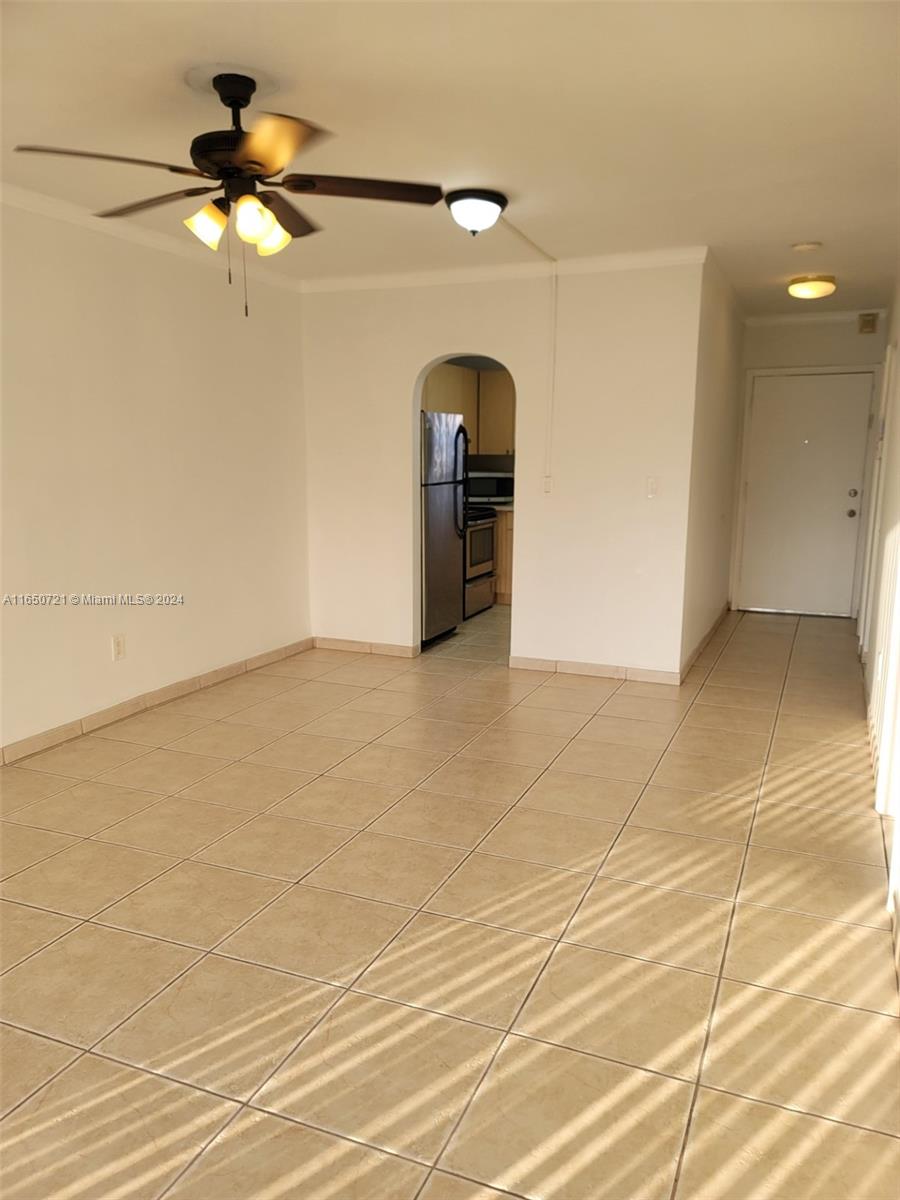
<path fill-rule="evenodd" d="M 418 641 L 415 388 L 486 354 L 516 388 L 512 654 L 677 671 L 701 274 L 560 276 L 550 448 L 548 278 L 306 294 L 316 632 Z"/>

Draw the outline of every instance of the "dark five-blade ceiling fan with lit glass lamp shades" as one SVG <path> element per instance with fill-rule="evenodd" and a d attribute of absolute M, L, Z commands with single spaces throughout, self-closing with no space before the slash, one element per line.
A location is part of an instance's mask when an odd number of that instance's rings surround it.
<path fill-rule="evenodd" d="M 256 245 L 257 253 L 262 256 L 277 254 L 294 238 L 316 233 L 318 226 L 278 192 L 271 191 L 276 187 L 295 194 L 346 196 L 362 200 L 401 200 L 407 204 L 437 204 L 443 199 L 444 193 L 437 184 L 355 179 L 349 175 L 283 175 L 281 179 L 272 179 L 300 150 L 323 137 L 324 131 L 299 116 L 286 116 L 282 113 L 262 113 L 252 130 L 244 130 L 241 109 L 250 103 L 257 88 L 256 80 L 242 74 L 217 74 L 212 79 L 212 86 L 232 112 L 232 128 L 198 134 L 191 143 L 193 167 L 56 146 L 24 145 L 16 149 L 28 154 L 68 155 L 74 158 L 157 167 L 175 175 L 212 181 L 211 186 L 185 187 L 179 192 L 166 192 L 96 214 L 98 217 L 125 217 L 191 196 L 222 191 L 222 196 L 204 204 L 184 222 L 210 250 L 218 248 L 232 206 L 235 210 L 238 236 Z"/>

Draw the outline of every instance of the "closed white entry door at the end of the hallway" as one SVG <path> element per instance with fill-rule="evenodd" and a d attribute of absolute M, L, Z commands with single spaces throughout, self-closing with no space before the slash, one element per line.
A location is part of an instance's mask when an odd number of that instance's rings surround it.
<path fill-rule="evenodd" d="M 850 617 L 871 373 L 757 376 L 738 606 Z"/>

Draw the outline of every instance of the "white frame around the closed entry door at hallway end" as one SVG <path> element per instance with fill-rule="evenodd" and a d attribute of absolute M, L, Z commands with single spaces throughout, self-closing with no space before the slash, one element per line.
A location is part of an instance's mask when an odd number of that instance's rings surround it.
<path fill-rule="evenodd" d="M 731 571 L 728 581 L 728 590 L 731 593 L 731 607 L 740 607 L 740 569 L 742 559 L 744 554 L 744 534 L 746 528 L 746 493 L 749 484 L 749 469 L 750 469 L 750 421 L 752 420 L 752 403 L 754 403 L 754 389 L 756 386 L 756 380 L 760 378 L 772 378 L 781 376 L 816 376 L 816 374 L 868 374 L 871 376 L 871 389 L 869 396 L 869 428 L 865 439 L 865 457 L 863 466 L 863 497 L 862 505 L 859 509 L 859 526 L 857 529 L 857 550 L 856 559 L 853 563 L 853 590 L 851 600 L 851 617 L 856 618 L 859 613 L 859 594 L 863 584 L 863 569 L 865 559 L 865 546 L 869 530 L 869 521 L 871 512 L 871 476 L 872 476 L 872 464 L 875 458 L 875 446 L 877 438 L 875 434 L 877 430 L 875 428 L 875 406 L 880 394 L 880 379 L 881 379 L 882 365 L 880 362 L 872 364 L 853 364 L 851 366 L 814 366 L 814 367 L 750 367 L 746 371 L 746 378 L 744 382 L 744 404 L 742 409 L 742 421 L 740 421 L 740 469 L 738 476 L 738 496 L 737 504 L 734 506 L 734 529 L 732 536 L 732 552 L 731 552 Z M 785 612 L 784 608 L 763 608 L 763 610 L 748 610 L 754 612 Z M 815 613 L 811 616 L 829 616 L 828 613 Z"/>

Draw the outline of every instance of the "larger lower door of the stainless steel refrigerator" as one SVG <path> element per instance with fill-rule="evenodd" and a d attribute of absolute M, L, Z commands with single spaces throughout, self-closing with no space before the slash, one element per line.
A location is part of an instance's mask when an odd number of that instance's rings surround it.
<path fill-rule="evenodd" d="M 443 484 L 421 491 L 422 641 L 428 641 L 462 623 L 463 539 L 454 520 L 458 486 Z"/>

